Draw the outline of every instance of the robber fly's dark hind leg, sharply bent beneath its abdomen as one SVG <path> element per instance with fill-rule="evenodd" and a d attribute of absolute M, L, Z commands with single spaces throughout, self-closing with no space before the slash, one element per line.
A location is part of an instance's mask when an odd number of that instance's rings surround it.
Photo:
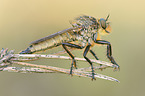
<path fill-rule="evenodd" d="M 82 49 L 83 47 L 81 47 L 79 45 L 71 44 L 71 43 L 62 43 L 62 46 L 65 49 L 65 51 L 69 54 L 69 56 L 72 58 L 72 64 L 71 64 L 71 68 L 70 68 L 70 74 L 72 75 L 73 66 L 76 67 L 76 60 L 75 60 L 73 54 L 67 49 L 66 46 L 72 47 L 72 48 L 77 48 L 77 49 Z"/>

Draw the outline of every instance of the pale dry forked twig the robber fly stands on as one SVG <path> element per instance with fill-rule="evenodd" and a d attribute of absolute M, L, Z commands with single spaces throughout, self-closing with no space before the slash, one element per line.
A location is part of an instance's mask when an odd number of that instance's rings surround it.
<path fill-rule="evenodd" d="M 11 50 L 9 52 L 7 50 L 8 49 L 2 49 L 1 52 L 0 52 L 0 70 L 1 71 L 12 70 L 12 71 L 15 71 L 15 72 L 42 72 L 42 73 L 44 73 L 44 72 L 48 72 L 48 71 L 52 70 L 53 72 L 60 72 L 60 73 L 70 74 L 69 69 L 58 68 L 58 67 L 53 67 L 53 66 L 45 66 L 45 65 L 36 65 L 36 64 L 24 63 L 24 61 L 26 61 L 26 60 L 30 61 L 30 60 L 36 60 L 36 59 L 41 59 L 41 58 L 71 59 L 70 57 L 57 56 L 57 55 L 40 55 L 40 54 L 14 54 L 13 50 Z M 75 59 L 80 60 L 80 61 L 86 61 L 84 58 L 75 58 Z M 19 62 L 19 61 L 23 61 L 23 62 Z M 94 63 L 97 63 L 99 65 L 100 64 L 103 65 L 101 67 L 95 66 L 94 69 L 105 69 L 107 67 L 117 68 L 117 66 L 112 64 L 112 63 L 99 61 L 99 60 L 93 60 L 93 59 L 91 59 L 91 61 L 94 62 Z M 21 67 L 8 67 L 11 64 L 29 66 L 29 69 L 25 68 L 25 67 L 22 67 L 22 68 Z M 30 68 L 30 67 L 37 67 L 37 68 L 39 68 L 38 70 L 41 70 L 41 71 L 38 71 L 37 69 Z M 73 70 L 73 75 L 92 78 L 92 73 L 91 72 L 86 72 L 86 70 L 88 71 L 88 70 L 90 70 L 90 68 L 88 67 L 88 68 L 80 68 L 78 70 Z M 95 77 L 110 80 L 110 81 L 119 82 L 115 78 L 105 76 L 105 75 L 102 75 L 102 74 L 98 74 L 98 73 L 95 73 Z"/>

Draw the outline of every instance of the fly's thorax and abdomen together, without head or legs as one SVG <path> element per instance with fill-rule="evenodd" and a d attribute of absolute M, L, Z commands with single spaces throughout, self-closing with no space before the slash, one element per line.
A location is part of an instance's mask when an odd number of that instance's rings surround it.
<path fill-rule="evenodd" d="M 31 45 L 25 51 L 22 51 L 21 54 L 31 54 L 47 50 L 66 42 L 75 43 L 75 41 L 78 41 L 81 46 L 86 46 L 87 43 L 93 42 L 93 35 L 98 30 L 98 24 L 94 17 L 80 16 L 72 22 L 72 26 L 71 28 L 31 42 Z"/>

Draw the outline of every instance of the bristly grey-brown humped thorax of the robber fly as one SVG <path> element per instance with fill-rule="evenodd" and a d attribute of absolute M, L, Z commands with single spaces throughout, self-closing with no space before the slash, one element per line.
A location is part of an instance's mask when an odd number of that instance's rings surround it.
<path fill-rule="evenodd" d="M 98 23 L 94 17 L 83 15 L 75 18 L 71 24 L 73 27 L 80 27 L 77 40 L 81 46 L 85 47 L 87 43 L 93 43 L 94 34 L 96 34 L 98 29 Z"/>

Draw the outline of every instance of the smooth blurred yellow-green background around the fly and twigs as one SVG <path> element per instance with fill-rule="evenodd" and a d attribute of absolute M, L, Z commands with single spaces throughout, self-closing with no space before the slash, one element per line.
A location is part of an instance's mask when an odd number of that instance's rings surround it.
<path fill-rule="evenodd" d="M 120 83 L 98 78 L 92 82 L 60 73 L 0 72 L 0 95 L 145 96 L 144 4 L 144 0 L 0 0 L 0 49 L 15 49 L 17 53 L 31 41 L 71 27 L 69 20 L 76 16 L 106 18 L 110 14 L 112 33 L 102 39 L 111 42 L 113 56 L 121 66 L 118 72 L 96 71 L 115 77 Z M 93 50 L 101 60 L 107 61 L 105 46 Z M 78 56 L 81 55 L 80 52 Z M 71 61 L 49 59 L 35 63 L 69 68 Z M 78 67 L 83 65 L 77 63 Z"/>

